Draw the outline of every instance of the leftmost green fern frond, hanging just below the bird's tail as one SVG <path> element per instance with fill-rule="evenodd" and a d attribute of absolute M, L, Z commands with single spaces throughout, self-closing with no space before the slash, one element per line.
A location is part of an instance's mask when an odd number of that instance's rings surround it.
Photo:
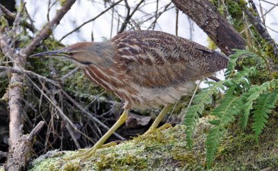
<path fill-rule="evenodd" d="M 224 81 L 206 82 L 208 84 L 212 84 L 212 86 L 206 89 L 202 89 L 201 92 L 197 93 L 193 100 L 193 104 L 195 105 L 191 105 L 190 107 L 188 107 L 183 123 L 184 125 L 186 125 L 186 141 L 189 148 L 192 148 L 193 145 L 192 138 L 197 121 L 199 120 L 199 115 L 202 115 L 204 106 L 212 102 L 211 96 L 213 94 L 218 94 L 220 88 L 224 89 L 222 85 L 223 82 Z"/>

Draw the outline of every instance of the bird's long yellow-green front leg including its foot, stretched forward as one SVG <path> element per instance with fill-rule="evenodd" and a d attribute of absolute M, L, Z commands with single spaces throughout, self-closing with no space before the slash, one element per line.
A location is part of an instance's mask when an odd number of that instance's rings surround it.
<path fill-rule="evenodd" d="M 99 141 L 97 141 L 97 143 L 95 143 L 95 145 L 93 147 L 88 149 L 86 152 L 71 156 L 70 159 L 75 159 L 75 158 L 78 158 L 78 157 L 82 157 L 81 160 L 88 159 L 90 156 L 95 154 L 97 149 L 99 149 L 101 147 L 105 147 L 106 146 L 106 145 L 104 145 L 105 141 L 111 136 L 111 134 L 113 134 L 113 132 L 115 132 L 115 130 L 118 127 L 120 127 L 123 123 L 126 122 L 128 114 L 129 114 L 129 110 L 125 109 L 124 112 L 122 113 L 122 115 L 120 116 L 120 118 L 117 120 L 117 122 L 111 127 L 111 129 L 108 130 L 108 132 L 106 132 L 106 134 L 104 134 L 104 136 L 102 136 L 99 139 Z"/>

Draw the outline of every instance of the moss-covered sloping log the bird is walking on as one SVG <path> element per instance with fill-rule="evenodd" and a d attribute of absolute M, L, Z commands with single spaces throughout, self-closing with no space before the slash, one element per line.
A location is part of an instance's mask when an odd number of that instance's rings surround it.
<path fill-rule="evenodd" d="M 48 152 L 31 162 L 28 170 L 206 170 L 206 133 L 211 125 L 201 118 L 193 150 L 186 147 L 183 125 L 142 135 L 119 145 L 97 150 L 86 161 L 66 160 L 79 152 Z M 211 170 L 278 170 L 278 124 L 270 120 L 259 144 L 236 125 L 218 148 Z"/>

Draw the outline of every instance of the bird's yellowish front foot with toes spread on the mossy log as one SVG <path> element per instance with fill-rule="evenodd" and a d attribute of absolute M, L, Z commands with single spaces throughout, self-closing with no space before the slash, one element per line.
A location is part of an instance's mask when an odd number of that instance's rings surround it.
<path fill-rule="evenodd" d="M 99 147 L 93 146 L 89 149 L 79 149 L 77 151 L 81 152 L 81 154 L 76 154 L 74 156 L 68 156 L 67 158 L 65 158 L 65 160 L 73 160 L 73 159 L 80 158 L 81 161 L 85 161 L 86 159 L 89 159 L 91 156 L 93 156 L 98 149 L 105 148 L 105 147 L 111 147 L 114 145 L 117 145 L 117 143 L 111 142 L 111 143 L 101 145 Z"/>

